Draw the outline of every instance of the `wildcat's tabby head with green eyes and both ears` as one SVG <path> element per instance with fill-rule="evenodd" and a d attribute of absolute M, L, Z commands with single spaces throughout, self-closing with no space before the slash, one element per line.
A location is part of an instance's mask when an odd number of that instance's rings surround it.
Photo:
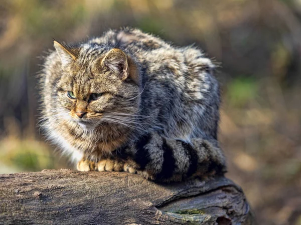
<path fill-rule="evenodd" d="M 139 69 L 118 48 L 81 44 L 67 47 L 54 41 L 60 58 L 56 80 L 59 105 L 83 127 L 130 122 L 139 111 Z"/>

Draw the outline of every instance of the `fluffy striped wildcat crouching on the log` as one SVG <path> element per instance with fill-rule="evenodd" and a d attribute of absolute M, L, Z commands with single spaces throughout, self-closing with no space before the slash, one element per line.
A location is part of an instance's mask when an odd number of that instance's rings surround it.
<path fill-rule="evenodd" d="M 45 134 L 81 171 L 170 182 L 226 172 L 215 65 L 136 28 L 67 45 L 40 72 Z"/>

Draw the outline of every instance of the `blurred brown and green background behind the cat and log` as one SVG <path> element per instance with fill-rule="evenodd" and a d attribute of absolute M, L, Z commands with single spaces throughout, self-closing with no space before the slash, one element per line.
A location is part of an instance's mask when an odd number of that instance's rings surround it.
<path fill-rule="evenodd" d="M 259 224 L 301 224 L 301 0 L 0 0 L 0 173 L 70 168 L 43 140 L 35 74 L 53 38 L 136 26 L 220 61 L 227 176 Z"/>

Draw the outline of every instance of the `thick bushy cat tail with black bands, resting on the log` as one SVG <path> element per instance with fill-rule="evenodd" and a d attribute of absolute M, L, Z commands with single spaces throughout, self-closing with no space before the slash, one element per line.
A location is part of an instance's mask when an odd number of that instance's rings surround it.
<path fill-rule="evenodd" d="M 141 136 L 120 152 L 138 174 L 156 181 L 180 181 L 226 172 L 225 157 L 213 139 L 192 138 L 187 143 L 152 133 Z"/>

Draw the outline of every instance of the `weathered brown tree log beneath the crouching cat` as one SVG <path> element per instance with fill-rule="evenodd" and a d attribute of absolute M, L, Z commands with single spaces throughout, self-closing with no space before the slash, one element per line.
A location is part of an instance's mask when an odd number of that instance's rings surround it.
<path fill-rule="evenodd" d="M 126 172 L 0 174 L 0 224 L 253 224 L 224 176 L 159 184 Z"/>

